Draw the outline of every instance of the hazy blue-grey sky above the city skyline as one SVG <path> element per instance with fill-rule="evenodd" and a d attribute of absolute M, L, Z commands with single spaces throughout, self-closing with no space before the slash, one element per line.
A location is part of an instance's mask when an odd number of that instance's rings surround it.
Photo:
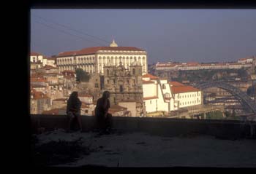
<path fill-rule="evenodd" d="M 146 50 L 148 63 L 227 62 L 256 55 L 256 9 L 31 9 L 31 52 Z"/>

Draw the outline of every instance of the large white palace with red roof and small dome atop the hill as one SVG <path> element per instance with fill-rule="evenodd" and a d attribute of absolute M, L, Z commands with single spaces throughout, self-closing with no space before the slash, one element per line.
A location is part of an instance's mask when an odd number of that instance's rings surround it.
<path fill-rule="evenodd" d="M 134 61 L 138 61 L 142 66 L 143 74 L 147 74 L 147 52 L 137 47 L 118 47 L 114 40 L 110 47 L 89 47 L 56 55 L 59 72 L 82 68 L 89 74 L 103 74 L 104 66 L 118 66 L 121 62 L 129 70 L 129 66 Z"/>

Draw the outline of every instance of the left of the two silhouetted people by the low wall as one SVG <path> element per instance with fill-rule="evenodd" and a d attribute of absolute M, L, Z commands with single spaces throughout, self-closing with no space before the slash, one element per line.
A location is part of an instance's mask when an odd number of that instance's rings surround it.
<path fill-rule="evenodd" d="M 80 131 L 82 131 L 82 122 L 80 118 L 81 101 L 78 98 L 78 92 L 74 91 L 67 100 L 67 116 L 69 119 L 67 131 L 70 131 L 70 127 L 73 121 L 77 121 Z"/>

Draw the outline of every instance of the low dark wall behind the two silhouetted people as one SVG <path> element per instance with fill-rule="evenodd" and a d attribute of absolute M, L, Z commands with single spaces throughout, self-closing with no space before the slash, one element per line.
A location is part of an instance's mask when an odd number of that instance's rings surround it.
<path fill-rule="evenodd" d="M 94 128 L 94 116 L 81 116 L 83 131 Z M 67 128 L 67 117 L 64 115 L 31 115 L 33 133 L 39 127 L 45 130 Z M 151 135 L 175 136 L 196 133 L 214 135 L 219 138 L 256 138 L 256 122 L 244 124 L 236 120 L 196 120 L 196 119 L 167 119 L 113 116 L 113 129 L 124 132 L 144 132 Z"/>

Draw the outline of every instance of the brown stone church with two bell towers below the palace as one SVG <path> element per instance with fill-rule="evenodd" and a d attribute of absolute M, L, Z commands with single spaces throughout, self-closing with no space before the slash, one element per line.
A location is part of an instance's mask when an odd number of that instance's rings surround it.
<path fill-rule="evenodd" d="M 110 64 L 104 67 L 103 90 L 110 92 L 110 103 L 131 107 L 133 116 L 145 115 L 143 104 L 142 87 L 142 66 L 140 62 L 135 61 L 129 66 L 129 71 L 119 63 L 119 66 Z"/>

